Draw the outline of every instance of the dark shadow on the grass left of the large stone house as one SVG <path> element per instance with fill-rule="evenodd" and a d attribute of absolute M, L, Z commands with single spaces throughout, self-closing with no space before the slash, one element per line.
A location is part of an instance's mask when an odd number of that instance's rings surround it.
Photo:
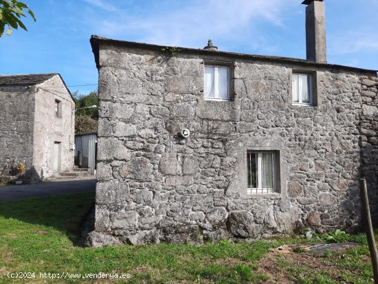
<path fill-rule="evenodd" d="M 95 193 L 0 202 L 0 216 L 53 227 L 80 245 L 83 221 L 94 207 Z"/>

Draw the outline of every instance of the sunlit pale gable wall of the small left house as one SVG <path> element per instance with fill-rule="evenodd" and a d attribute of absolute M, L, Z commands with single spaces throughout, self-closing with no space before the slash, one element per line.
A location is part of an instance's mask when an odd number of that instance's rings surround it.
<path fill-rule="evenodd" d="M 34 166 L 41 179 L 54 175 L 54 142 L 60 142 L 60 172 L 74 168 L 74 101 L 58 75 L 36 85 Z M 55 116 L 60 101 L 60 118 Z"/>

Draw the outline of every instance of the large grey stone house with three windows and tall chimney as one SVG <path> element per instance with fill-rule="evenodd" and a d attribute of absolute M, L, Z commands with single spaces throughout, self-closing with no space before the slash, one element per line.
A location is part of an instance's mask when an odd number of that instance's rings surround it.
<path fill-rule="evenodd" d="M 91 245 L 258 238 L 377 214 L 377 71 L 326 63 L 324 2 L 307 60 L 91 37 L 99 72 Z"/>

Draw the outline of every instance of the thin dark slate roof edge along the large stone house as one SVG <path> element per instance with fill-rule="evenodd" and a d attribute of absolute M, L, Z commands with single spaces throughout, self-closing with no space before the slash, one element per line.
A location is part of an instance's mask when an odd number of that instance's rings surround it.
<path fill-rule="evenodd" d="M 107 39 L 102 36 L 92 35 L 91 39 L 91 47 L 93 54 L 95 56 L 96 65 L 98 67 L 98 52 L 99 52 L 99 45 L 100 43 L 108 43 L 111 45 L 118 45 L 123 47 L 131 47 L 131 48 L 139 48 L 143 50 L 158 50 L 161 51 L 163 45 L 153 45 L 149 43 L 136 43 L 133 41 L 120 41 L 115 39 Z M 168 46 L 169 47 L 169 46 Z M 222 51 L 212 51 L 212 50 L 203 50 L 203 49 L 195 49 L 195 48 L 188 48 L 188 47 L 176 47 L 180 50 L 180 52 L 185 52 L 187 54 L 203 54 L 207 56 L 225 56 L 229 58 L 240 58 L 240 59 L 247 59 L 247 60 L 258 60 L 258 61 L 268 61 L 272 63 L 286 63 L 291 65 L 302 65 L 302 66 L 309 66 L 309 67 L 324 67 L 328 69 L 344 69 L 348 71 L 354 72 L 363 72 L 369 74 L 377 74 L 378 70 L 370 70 L 370 69 L 362 69 L 357 67 L 349 67 L 343 65 L 334 65 L 328 63 L 315 63 L 313 61 L 307 61 L 305 59 L 299 58 L 289 58 L 289 57 L 281 57 L 281 56 L 265 56 L 265 55 L 256 55 L 256 54 L 243 54 L 243 53 L 236 53 L 236 52 L 222 52 Z"/>

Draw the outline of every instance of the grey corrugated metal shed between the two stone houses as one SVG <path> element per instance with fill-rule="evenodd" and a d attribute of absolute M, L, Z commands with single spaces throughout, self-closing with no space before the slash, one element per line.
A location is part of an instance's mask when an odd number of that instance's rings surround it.
<path fill-rule="evenodd" d="M 89 168 L 92 175 L 96 171 L 97 133 L 75 135 L 75 164 L 79 168 Z"/>

